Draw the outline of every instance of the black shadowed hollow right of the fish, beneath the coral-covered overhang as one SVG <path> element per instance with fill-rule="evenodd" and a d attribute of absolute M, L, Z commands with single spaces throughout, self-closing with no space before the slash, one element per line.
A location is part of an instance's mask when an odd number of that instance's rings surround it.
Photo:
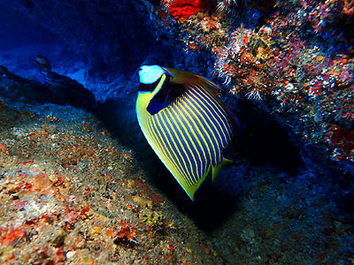
<path fill-rule="evenodd" d="M 296 175 L 304 163 L 300 149 L 292 142 L 288 130 L 270 114 L 246 100 L 238 100 L 237 110 L 233 112 L 241 125 L 235 136 L 237 155 L 254 166 Z"/>

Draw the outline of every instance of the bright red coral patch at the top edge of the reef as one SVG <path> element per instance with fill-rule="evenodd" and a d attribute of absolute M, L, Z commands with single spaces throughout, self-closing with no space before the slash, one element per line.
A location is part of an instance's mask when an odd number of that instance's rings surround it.
<path fill-rule="evenodd" d="M 204 5 L 201 0 L 175 0 L 167 9 L 174 19 L 188 19 L 191 15 L 204 10 Z"/>

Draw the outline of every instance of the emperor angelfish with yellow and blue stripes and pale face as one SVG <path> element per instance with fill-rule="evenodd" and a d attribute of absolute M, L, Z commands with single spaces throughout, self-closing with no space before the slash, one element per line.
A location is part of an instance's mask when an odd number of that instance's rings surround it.
<path fill-rule="evenodd" d="M 143 65 L 136 116 L 142 133 L 173 177 L 194 200 L 212 169 L 232 163 L 224 157 L 238 122 L 214 95 L 221 88 L 191 72 Z"/>

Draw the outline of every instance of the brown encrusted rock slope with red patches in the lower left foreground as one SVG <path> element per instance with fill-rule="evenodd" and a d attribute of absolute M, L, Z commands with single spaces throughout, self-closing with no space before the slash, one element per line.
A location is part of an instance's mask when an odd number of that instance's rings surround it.
<path fill-rule="evenodd" d="M 0 263 L 222 264 L 103 130 L 68 106 L 0 102 Z"/>

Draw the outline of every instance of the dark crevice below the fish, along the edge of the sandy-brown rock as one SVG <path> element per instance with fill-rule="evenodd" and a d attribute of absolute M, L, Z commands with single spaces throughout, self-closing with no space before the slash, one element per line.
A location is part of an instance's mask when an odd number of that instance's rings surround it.
<path fill-rule="evenodd" d="M 196 192 L 195 201 L 189 199 L 143 138 L 137 125 L 134 106 L 112 100 L 96 107 L 94 112 L 104 127 L 112 133 L 112 137 L 135 153 L 138 163 L 150 176 L 150 183 L 165 193 L 199 228 L 212 231 L 235 212 L 240 193 L 232 193 L 224 190 L 222 186 L 212 184 L 211 178 L 205 179 Z M 232 169 L 232 166 L 227 168 Z M 227 179 L 235 181 L 235 178 Z M 217 180 L 219 181 L 222 179 Z"/>

